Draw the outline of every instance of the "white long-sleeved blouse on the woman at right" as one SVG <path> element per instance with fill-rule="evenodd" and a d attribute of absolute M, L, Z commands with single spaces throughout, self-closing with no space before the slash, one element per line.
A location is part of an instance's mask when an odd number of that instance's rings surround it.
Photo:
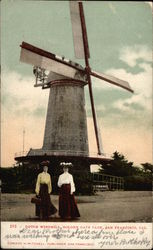
<path fill-rule="evenodd" d="M 71 194 L 75 192 L 75 185 L 73 181 L 73 176 L 69 173 L 63 173 L 58 178 L 58 187 L 61 187 L 63 184 L 70 184 L 71 185 Z"/>

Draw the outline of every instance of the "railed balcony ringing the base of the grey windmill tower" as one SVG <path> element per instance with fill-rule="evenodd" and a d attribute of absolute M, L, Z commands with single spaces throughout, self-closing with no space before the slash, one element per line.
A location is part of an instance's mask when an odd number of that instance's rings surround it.
<path fill-rule="evenodd" d="M 32 152 L 31 152 L 32 150 Z M 42 156 L 42 155 L 48 155 L 48 156 L 67 156 L 67 155 L 75 155 L 75 156 L 89 156 L 89 157 L 104 157 L 104 158 L 110 158 L 108 154 L 102 153 L 101 155 L 97 154 L 96 152 L 89 152 L 89 154 L 85 151 L 72 151 L 72 150 L 43 150 L 43 149 L 31 149 L 29 151 L 20 151 L 15 153 L 15 157 L 24 157 L 24 156 Z"/>

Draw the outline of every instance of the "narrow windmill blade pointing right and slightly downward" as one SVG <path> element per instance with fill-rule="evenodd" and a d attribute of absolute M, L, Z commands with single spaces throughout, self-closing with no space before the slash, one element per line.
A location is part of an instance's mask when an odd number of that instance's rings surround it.
<path fill-rule="evenodd" d="M 103 74 L 103 73 L 97 73 L 97 72 L 95 72 L 95 71 L 91 71 L 91 73 L 90 73 L 92 76 L 94 76 L 94 77 L 96 77 L 96 78 L 99 78 L 99 79 L 101 79 L 101 80 L 104 80 L 104 81 L 106 81 L 106 82 L 109 82 L 109 83 L 111 83 L 111 84 L 114 84 L 114 85 L 116 85 L 116 86 L 118 86 L 118 87 L 121 87 L 121 88 L 123 88 L 123 89 L 126 89 L 126 90 L 128 90 L 128 91 L 130 91 L 130 92 L 134 92 L 132 89 L 131 89 L 131 87 L 130 87 L 130 84 L 128 83 L 128 82 L 126 82 L 126 81 L 123 81 L 123 80 L 120 80 L 119 78 L 116 78 L 116 77 L 114 77 L 114 76 L 108 76 L 108 75 L 105 75 L 105 74 Z"/>

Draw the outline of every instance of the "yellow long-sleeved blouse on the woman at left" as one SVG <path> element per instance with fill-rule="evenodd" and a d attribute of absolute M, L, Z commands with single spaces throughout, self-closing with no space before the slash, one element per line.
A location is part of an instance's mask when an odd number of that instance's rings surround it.
<path fill-rule="evenodd" d="M 48 185 L 48 193 L 50 194 L 52 191 L 52 185 L 51 185 L 51 177 L 50 174 L 42 172 L 38 174 L 37 182 L 36 182 L 36 189 L 35 192 L 38 195 L 40 191 L 40 184 L 47 184 Z"/>

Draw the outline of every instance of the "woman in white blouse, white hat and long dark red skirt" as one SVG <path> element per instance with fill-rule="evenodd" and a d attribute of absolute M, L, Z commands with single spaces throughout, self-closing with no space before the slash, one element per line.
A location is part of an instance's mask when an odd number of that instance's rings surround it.
<path fill-rule="evenodd" d="M 59 215 L 61 218 L 80 217 L 77 203 L 73 194 L 75 192 L 73 176 L 68 172 L 68 164 L 62 163 L 61 165 L 63 165 L 64 173 L 58 178 L 58 187 L 60 188 Z"/>

